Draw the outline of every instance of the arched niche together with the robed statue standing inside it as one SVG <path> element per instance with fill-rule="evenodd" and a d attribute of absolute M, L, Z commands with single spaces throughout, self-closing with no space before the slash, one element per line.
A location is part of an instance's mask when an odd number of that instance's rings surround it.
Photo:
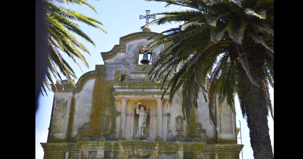
<path fill-rule="evenodd" d="M 150 136 L 150 111 L 148 106 L 140 105 L 141 102 L 136 104 L 134 109 L 134 123 L 133 123 L 133 133 L 134 137 L 149 137 Z"/>

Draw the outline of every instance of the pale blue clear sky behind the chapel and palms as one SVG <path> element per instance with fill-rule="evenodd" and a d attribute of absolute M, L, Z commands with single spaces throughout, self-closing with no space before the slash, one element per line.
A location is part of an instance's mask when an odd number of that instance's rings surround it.
<path fill-rule="evenodd" d="M 142 31 L 140 27 L 145 25 L 145 19 L 139 19 L 140 15 L 146 15 L 145 10 L 151 10 L 150 14 L 157 12 L 168 12 L 172 10 L 182 10 L 178 6 L 169 6 L 164 8 L 165 3 L 159 2 L 146 2 L 144 0 L 111 0 L 111 1 L 88 1 L 93 6 L 95 6 L 98 15 L 87 6 L 79 5 L 69 5 L 67 8 L 74 9 L 84 15 L 90 16 L 102 22 L 102 28 L 108 32 L 108 34 L 103 33 L 100 29 L 89 27 L 81 22 L 78 22 L 81 29 L 95 42 L 96 47 L 87 43 L 85 40 L 79 38 L 90 51 L 91 55 L 83 53 L 86 60 L 88 61 L 89 68 L 86 68 L 80 61 L 79 64 L 82 67 L 83 72 L 78 68 L 78 66 L 67 56 L 64 56 L 65 60 L 74 68 L 74 71 L 79 78 L 85 72 L 95 70 L 95 65 L 104 64 L 100 52 L 110 51 L 114 45 L 119 44 L 119 38 L 134 32 Z M 156 17 L 157 18 L 157 17 Z M 150 21 L 153 19 L 150 19 Z M 169 28 L 176 27 L 178 24 L 168 24 L 168 25 L 151 25 L 150 28 L 154 32 L 162 32 Z M 43 97 L 41 94 L 38 99 L 38 110 L 36 112 L 35 120 L 35 131 L 36 131 L 36 159 L 43 158 L 43 149 L 39 143 L 46 142 L 48 135 L 48 127 L 51 118 L 52 103 L 53 103 L 53 92 L 47 92 L 48 97 Z M 274 105 L 274 93 L 273 89 L 270 90 L 271 101 Z M 237 127 L 239 126 L 239 121 L 241 121 L 241 134 L 242 134 L 242 144 L 243 148 L 243 158 L 253 159 L 253 151 L 250 146 L 249 130 L 247 127 L 247 122 L 242 118 L 241 110 L 236 97 L 236 121 Z M 268 118 L 268 125 L 270 129 L 271 144 L 274 144 L 274 124 L 271 117 Z M 240 137 L 240 133 L 238 135 Z M 238 144 L 241 141 L 238 139 Z M 241 159 L 241 153 L 240 153 Z"/>

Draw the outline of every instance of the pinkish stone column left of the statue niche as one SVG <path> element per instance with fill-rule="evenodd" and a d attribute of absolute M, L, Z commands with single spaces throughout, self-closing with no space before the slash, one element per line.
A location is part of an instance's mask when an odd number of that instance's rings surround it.
<path fill-rule="evenodd" d="M 120 133 L 118 141 L 125 141 L 125 116 L 126 116 L 126 103 L 127 98 L 121 98 L 121 118 L 120 118 Z"/>

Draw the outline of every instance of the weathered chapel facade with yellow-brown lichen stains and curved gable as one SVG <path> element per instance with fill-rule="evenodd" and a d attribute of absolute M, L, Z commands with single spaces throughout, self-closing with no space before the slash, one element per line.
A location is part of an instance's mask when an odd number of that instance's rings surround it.
<path fill-rule="evenodd" d="M 231 111 L 219 115 L 217 105 L 216 131 L 202 95 L 190 125 L 183 120 L 181 91 L 171 104 L 169 94 L 161 100 L 162 83 L 148 77 L 151 65 L 138 64 L 140 48 L 155 34 L 145 28 L 121 37 L 119 45 L 101 53 L 104 65 L 83 74 L 76 87 L 66 80 L 64 89 L 56 85 L 47 143 L 41 143 L 44 159 L 239 159 L 244 145 L 237 144 Z M 153 49 L 151 58 L 162 50 Z M 142 118 L 144 136 L 137 135 L 137 106 L 147 114 Z"/>

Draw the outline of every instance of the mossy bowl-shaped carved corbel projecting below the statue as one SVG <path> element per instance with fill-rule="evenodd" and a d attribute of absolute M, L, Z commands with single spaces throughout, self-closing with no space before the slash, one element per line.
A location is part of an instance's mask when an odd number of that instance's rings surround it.
<path fill-rule="evenodd" d="M 128 141 L 121 142 L 121 146 L 128 156 L 131 158 L 146 158 L 149 157 L 154 151 L 157 142 L 146 141 Z"/>

